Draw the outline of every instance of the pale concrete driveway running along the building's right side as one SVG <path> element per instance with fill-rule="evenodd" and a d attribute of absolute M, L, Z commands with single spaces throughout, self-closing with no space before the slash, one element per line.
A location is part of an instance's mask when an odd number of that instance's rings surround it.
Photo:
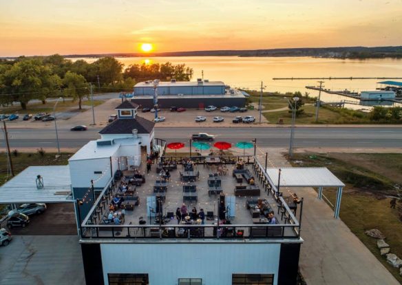
<path fill-rule="evenodd" d="M 264 161 L 261 152 L 259 159 Z M 268 167 L 290 167 L 278 150 L 268 150 L 268 155 Z M 313 188 L 282 190 L 296 192 L 304 198 L 301 220 L 304 243 L 299 266 L 308 285 L 399 284 L 345 223 L 334 218 L 332 209 L 325 201 L 318 200 Z"/>

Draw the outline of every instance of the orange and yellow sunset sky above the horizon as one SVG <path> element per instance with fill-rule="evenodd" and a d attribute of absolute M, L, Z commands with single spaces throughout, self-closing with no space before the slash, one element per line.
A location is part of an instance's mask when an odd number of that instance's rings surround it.
<path fill-rule="evenodd" d="M 402 45 L 402 0 L 0 0 L 0 56 Z"/>

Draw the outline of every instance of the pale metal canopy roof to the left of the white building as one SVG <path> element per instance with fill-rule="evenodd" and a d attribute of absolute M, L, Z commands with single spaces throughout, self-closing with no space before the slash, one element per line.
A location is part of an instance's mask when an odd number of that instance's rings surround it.
<path fill-rule="evenodd" d="M 41 175 L 43 188 L 36 187 Z M 0 187 L 0 204 L 72 203 L 68 166 L 30 166 Z"/>

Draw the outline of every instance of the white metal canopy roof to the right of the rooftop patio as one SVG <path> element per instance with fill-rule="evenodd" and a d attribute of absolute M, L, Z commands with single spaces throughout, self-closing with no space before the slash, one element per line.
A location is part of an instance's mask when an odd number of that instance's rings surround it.
<path fill-rule="evenodd" d="M 284 187 L 343 187 L 345 184 L 328 168 L 280 168 L 280 186 Z M 279 168 L 267 168 L 275 186 L 278 185 Z"/>

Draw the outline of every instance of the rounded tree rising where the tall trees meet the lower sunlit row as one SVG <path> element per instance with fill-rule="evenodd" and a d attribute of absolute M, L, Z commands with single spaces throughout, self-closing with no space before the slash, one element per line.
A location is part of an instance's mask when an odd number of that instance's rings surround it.
<path fill-rule="evenodd" d="M 112 56 L 99 58 L 93 65 L 96 67 L 100 82 L 105 85 L 115 84 L 122 79 L 123 63 Z"/>

